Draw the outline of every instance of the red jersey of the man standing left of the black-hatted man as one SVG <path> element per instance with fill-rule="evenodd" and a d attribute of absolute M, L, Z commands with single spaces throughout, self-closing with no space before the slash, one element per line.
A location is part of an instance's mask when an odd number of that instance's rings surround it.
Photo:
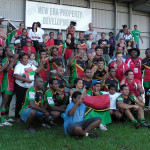
<path fill-rule="evenodd" d="M 114 67 L 116 64 L 116 61 L 110 64 L 110 67 Z M 129 69 L 128 65 L 124 62 L 122 62 L 121 66 L 115 67 L 116 69 L 116 78 L 121 82 L 123 78 L 125 77 L 125 72 Z"/>

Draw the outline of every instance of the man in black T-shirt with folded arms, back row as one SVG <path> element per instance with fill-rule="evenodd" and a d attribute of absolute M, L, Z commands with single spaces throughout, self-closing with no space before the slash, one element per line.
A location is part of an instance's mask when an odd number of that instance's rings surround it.
<path fill-rule="evenodd" d="M 107 59 L 109 62 L 109 48 L 110 48 L 110 43 L 106 39 L 106 34 L 104 32 L 101 33 L 101 39 L 98 41 L 98 45 L 103 48 L 103 57 Z"/>

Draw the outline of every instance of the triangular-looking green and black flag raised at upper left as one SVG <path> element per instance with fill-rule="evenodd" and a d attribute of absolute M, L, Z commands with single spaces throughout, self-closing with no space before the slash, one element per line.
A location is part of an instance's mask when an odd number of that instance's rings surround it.
<path fill-rule="evenodd" d="M 12 40 L 12 37 L 14 36 L 16 31 L 17 31 L 17 28 L 10 21 L 8 21 L 8 24 L 7 24 L 7 41 L 6 41 L 7 46 L 9 46 L 9 44 Z"/>

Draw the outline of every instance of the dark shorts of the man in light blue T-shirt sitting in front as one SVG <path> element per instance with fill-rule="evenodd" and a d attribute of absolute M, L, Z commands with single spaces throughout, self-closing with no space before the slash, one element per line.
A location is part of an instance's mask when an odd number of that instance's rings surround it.
<path fill-rule="evenodd" d="M 77 123 L 70 124 L 67 127 L 67 133 L 70 136 L 74 136 L 76 127 L 81 127 L 82 130 L 85 130 L 90 124 L 92 124 L 93 122 L 98 121 L 98 120 L 100 120 L 99 117 L 93 117 L 93 118 L 90 118 L 90 119 L 87 119 L 87 120 L 84 120 L 84 121 L 80 121 L 80 122 L 77 122 Z"/>

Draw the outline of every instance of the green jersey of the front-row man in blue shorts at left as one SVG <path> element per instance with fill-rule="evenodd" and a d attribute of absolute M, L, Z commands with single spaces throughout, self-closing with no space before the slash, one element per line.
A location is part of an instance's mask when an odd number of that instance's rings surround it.
<path fill-rule="evenodd" d="M 34 86 L 27 90 L 24 105 L 19 112 L 20 115 L 25 109 L 30 108 L 30 101 L 34 101 L 36 105 L 40 106 L 40 104 L 44 102 L 42 90 L 38 91 Z"/>

